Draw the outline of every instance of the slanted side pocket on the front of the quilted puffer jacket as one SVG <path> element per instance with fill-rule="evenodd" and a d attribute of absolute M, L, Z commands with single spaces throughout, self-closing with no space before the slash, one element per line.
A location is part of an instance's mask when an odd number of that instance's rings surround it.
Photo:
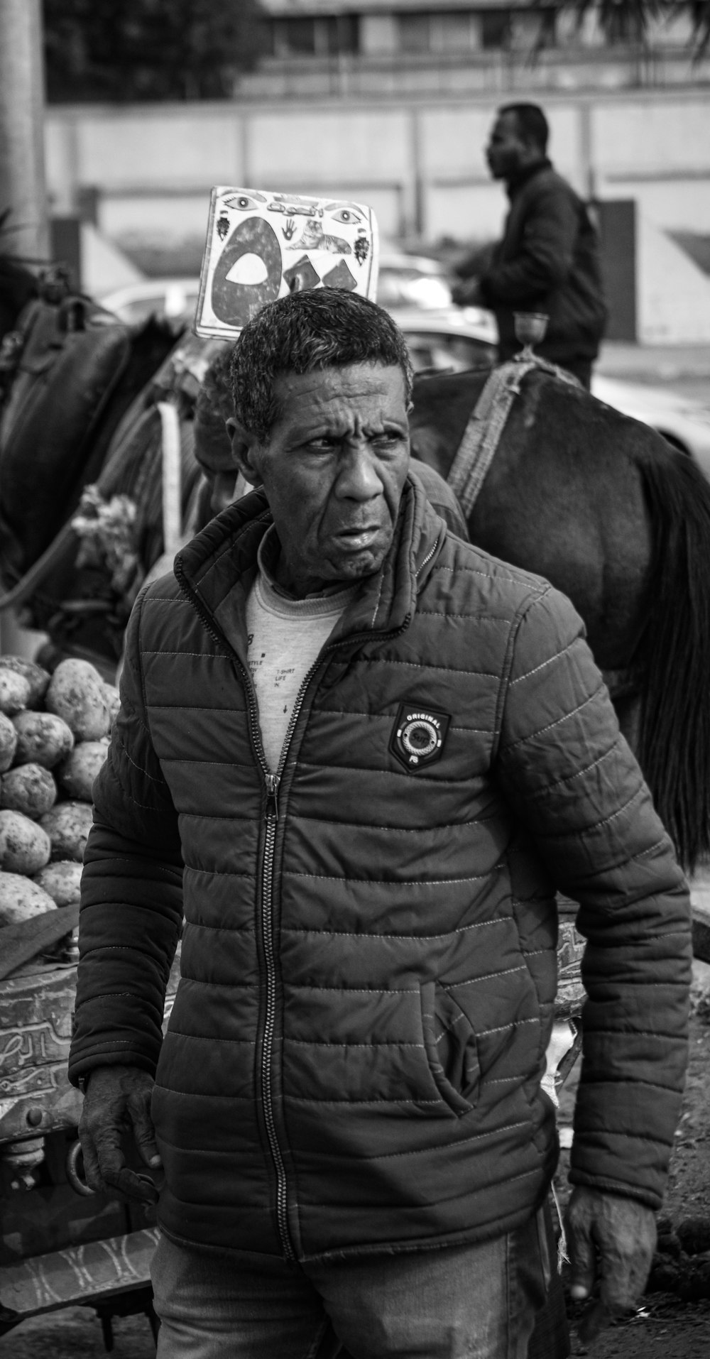
<path fill-rule="evenodd" d="M 454 1113 L 468 1113 L 479 1097 L 480 1067 L 471 1021 L 438 981 L 423 981 L 422 1029 L 437 1090 Z"/>

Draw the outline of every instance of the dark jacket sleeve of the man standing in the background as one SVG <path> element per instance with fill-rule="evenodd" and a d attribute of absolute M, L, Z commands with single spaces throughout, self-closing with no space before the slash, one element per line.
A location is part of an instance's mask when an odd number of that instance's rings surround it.
<path fill-rule="evenodd" d="M 515 211 L 513 208 L 513 211 Z M 521 247 L 514 258 L 495 261 L 480 279 L 488 306 L 539 299 L 564 281 L 574 262 L 579 230 L 578 209 L 563 185 L 539 189 L 525 209 Z"/>

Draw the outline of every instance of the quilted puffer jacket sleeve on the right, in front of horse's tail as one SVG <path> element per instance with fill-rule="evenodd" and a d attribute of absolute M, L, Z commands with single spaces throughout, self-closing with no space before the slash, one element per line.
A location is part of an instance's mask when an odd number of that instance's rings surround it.
<path fill-rule="evenodd" d="M 660 1207 L 687 1063 L 688 887 L 571 603 L 521 617 L 498 773 L 586 939 L 570 1178 Z"/>

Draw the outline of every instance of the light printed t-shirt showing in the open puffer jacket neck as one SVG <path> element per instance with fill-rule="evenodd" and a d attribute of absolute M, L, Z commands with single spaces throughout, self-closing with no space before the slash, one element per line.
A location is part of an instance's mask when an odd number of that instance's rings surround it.
<path fill-rule="evenodd" d="M 290 599 L 260 569 L 246 601 L 248 662 L 258 703 L 264 754 L 279 768 L 301 685 L 356 591 Z"/>

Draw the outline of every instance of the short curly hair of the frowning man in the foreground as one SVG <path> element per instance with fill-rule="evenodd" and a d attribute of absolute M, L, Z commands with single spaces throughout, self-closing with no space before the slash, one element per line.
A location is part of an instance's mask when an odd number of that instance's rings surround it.
<path fill-rule="evenodd" d="M 273 394 L 277 376 L 354 363 L 399 366 L 409 404 L 413 374 L 407 342 L 382 307 L 343 288 L 291 292 L 263 307 L 234 344 L 234 414 L 265 442 L 282 413 Z"/>

